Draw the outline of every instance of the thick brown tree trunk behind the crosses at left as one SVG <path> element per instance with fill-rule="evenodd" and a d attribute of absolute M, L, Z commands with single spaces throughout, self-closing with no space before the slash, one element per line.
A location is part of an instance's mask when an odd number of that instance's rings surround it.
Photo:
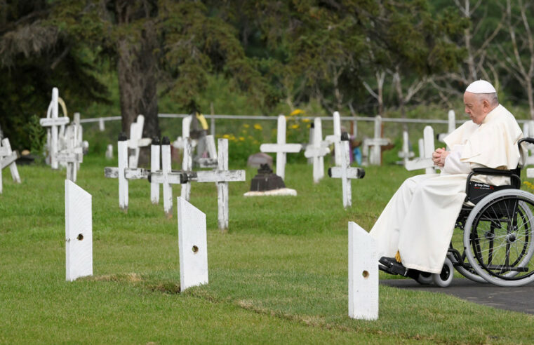
<path fill-rule="evenodd" d="M 145 116 L 143 137 L 159 137 L 158 99 L 156 81 L 156 40 L 154 27 L 147 23 L 140 41 L 131 43 L 128 37 L 118 41 L 117 74 L 119 77 L 119 99 L 121 103 L 122 130 L 130 135 L 131 123 L 139 114 Z M 149 148 L 143 148 L 140 165 L 147 165 Z"/>

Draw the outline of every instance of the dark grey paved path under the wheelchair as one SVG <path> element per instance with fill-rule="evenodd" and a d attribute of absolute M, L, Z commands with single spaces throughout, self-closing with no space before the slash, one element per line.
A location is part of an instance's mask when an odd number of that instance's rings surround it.
<path fill-rule="evenodd" d="M 534 283 L 519 288 L 501 288 L 492 284 L 475 283 L 465 278 L 454 278 L 447 288 L 420 285 L 413 279 L 380 280 L 380 284 L 401 289 L 442 292 L 494 308 L 534 314 Z"/>

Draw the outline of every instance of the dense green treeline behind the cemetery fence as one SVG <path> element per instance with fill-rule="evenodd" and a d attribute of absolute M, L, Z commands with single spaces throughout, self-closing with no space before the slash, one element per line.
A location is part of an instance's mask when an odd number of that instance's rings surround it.
<path fill-rule="evenodd" d="M 314 100 L 371 116 L 450 107 L 483 78 L 534 119 L 533 21 L 521 0 L 0 0 L 0 126 L 27 147 L 53 86 L 80 109 L 109 101 L 109 74 L 123 129 L 145 114 L 146 136 L 159 97 L 192 111 L 211 76 L 265 114 Z"/>

